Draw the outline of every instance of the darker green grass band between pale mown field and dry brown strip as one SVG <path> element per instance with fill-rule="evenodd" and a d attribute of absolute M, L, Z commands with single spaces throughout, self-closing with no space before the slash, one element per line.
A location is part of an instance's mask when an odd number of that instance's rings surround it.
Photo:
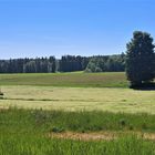
<path fill-rule="evenodd" d="M 155 132 L 155 115 L 108 112 L 64 112 L 42 110 L 3 110 L 0 133 L 46 134 L 55 132 Z"/>

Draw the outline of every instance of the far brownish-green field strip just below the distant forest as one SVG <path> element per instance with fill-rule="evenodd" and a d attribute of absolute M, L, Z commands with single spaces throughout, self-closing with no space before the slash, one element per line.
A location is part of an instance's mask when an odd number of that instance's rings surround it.
<path fill-rule="evenodd" d="M 127 87 L 125 73 L 0 74 L 0 85 Z"/>

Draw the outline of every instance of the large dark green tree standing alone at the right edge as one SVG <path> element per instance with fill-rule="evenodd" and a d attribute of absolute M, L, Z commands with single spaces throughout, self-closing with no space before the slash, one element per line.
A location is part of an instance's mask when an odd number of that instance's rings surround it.
<path fill-rule="evenodd" d="M 126 45 L 126 75 L 131 87 L 151 83 L 154 79 L 155 54 L 153 38 L 149 33 L 135 31 Z"/>

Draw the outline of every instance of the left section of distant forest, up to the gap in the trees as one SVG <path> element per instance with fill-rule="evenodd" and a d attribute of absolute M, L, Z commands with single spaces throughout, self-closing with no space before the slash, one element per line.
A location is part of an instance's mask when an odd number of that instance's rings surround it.
<path fill-rule="evenodd" d="M 55 58 L 0 60 L 0 73 L 51 73 L 55 72 Z"/>

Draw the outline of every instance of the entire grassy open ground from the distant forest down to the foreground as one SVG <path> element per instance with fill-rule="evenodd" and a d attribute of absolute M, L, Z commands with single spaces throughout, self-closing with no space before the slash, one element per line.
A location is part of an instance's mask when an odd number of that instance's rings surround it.
<path fill-rule="evenodd" d="M 1 74 L 0 154 L 155 155 L 155 92 L 125 73 Z"/>

